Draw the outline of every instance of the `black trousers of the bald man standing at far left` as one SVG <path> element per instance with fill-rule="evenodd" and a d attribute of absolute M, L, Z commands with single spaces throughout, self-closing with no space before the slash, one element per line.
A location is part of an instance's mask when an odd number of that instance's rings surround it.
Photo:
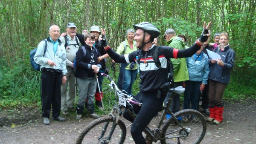
<path fill-rule="evenodd" d="M 54 71 L 54 70 L 52 70 Z M 52 117 L 57 118 L 61 111 L 61 72 L 42 70 L 41 75 L 41 103 L 42 117 L 50 117 L 52 105 Z"/>

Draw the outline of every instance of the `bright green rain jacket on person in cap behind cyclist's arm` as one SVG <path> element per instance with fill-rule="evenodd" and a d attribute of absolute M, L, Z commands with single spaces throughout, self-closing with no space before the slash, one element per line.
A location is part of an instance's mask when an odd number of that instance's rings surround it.
<path fill-rule="evenodd" d="M 180 37 L 172 37 L 171 40 L 166 42 L 166 45 L 175 49 L 185 49 L 186 44 L 181 40 Z M 186 58 L 171 58 L 174 66 L 174 82 L 187 81 L 189 80 L 189 72 L 186 66 Z"/>

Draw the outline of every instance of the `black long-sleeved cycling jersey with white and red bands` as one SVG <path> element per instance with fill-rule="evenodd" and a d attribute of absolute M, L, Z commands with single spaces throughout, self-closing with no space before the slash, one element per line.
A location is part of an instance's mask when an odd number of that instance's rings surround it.
<path fill-rule="evenodd" d="M 155 65 L 153 59 L 153 52 L 156 46 L 152 45 L 147 52 L 143 50 L 137 50 L 126 55 L 118 55 L 112 49 L 108 49 L 108 55 L 115 60 L 116 63 L 131 63 L 137 62 L 138 55 L 141 55 L 140 59 L 140 89 L 142 91 L 155 91 L 163 83 L 165 83 L 166 75 L 168 74 L 167 59 L 168 58 L 184 58 L 190 57 L 197 52 L 201 46 L 197 44 L 191 46 L 188 49 L 174 49 L 169 46 L 160 46 L 159 60 L 162 67 L 162 72 Z"/>

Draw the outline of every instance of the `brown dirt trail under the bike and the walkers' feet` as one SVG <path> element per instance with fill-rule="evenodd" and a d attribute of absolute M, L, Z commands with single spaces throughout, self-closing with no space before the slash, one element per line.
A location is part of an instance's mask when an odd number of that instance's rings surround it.
<path fill-rule="evenodd" d="M 219 125 L 207 123 L 202 144 L 256 144 L 256 100 L 226 102 L 224 121 Z M 207 117 L 207 115 L 205 115 Z M 50 125 L 41 122 L 38 109 L 0 111 L 1 144 L 74 144 L 84 127 L 93 119 L 75 120 L 75 113 L 66 121 L 50 119 Z M 129 122 L 125 121 L 128 125 Z M 20 125 L 22 124 L 22 126 Z M 134 144 L 128 132 L 125 144 Z"/>

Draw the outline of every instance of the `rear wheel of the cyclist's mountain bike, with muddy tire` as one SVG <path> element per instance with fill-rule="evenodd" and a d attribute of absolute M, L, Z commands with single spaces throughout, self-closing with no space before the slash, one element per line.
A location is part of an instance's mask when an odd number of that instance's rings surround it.
<path fill-rule="evenodd" d="M 183 127 L 189 128 L 190 132 L 187 134 L 178 124 L 175 124 L 172 118 L 170 118 L 163 126 L 163 139 L 161 140 L 161 144 L 199 144 L 204 138 L 207 127 L 204 116 L 194 109 L 184 109 L 176 112 L 174 115 L 176 118 L 182 118 L 179 121 L 180 124 Z M 168 138 L 177 135 L 183 135 L 183 137 Z"/>

